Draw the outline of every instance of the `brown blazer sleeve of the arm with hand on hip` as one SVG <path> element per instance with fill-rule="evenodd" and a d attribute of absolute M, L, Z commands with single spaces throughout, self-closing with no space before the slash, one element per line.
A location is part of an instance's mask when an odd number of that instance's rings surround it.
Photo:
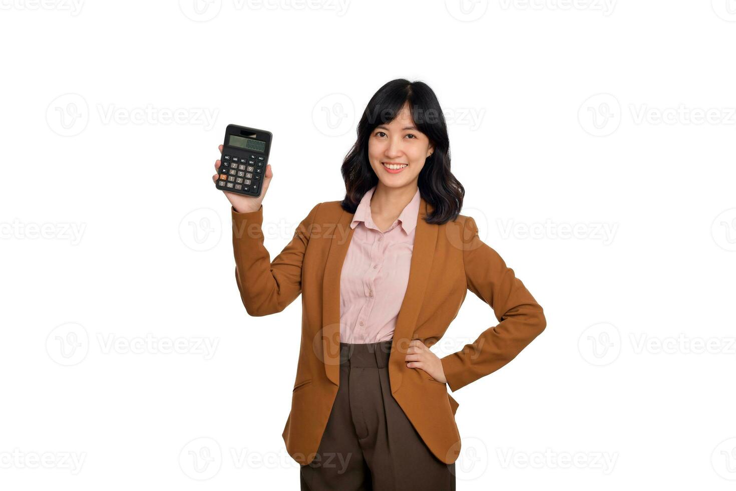
<path fill-rule="evenodd" d="M 467 217 L 460 228 L 464 237 L 470 236 L 470 241 L 461 240 L 467 289 L 491 306 L 498 325 L 486 329 L 473 344 L 441 358 L 453 391 L 512 361 L 547 325 L 542 307 L 514 270 L 478 237 L 475 220 Z"/>

